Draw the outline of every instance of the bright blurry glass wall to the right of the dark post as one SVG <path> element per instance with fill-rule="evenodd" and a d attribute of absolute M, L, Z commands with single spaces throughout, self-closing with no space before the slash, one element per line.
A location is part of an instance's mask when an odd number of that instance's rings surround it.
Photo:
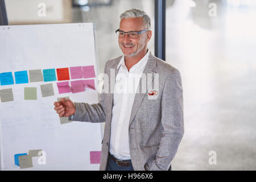
<path fill-rule="evenodd" d="M 184 89 L 174 170 L 256 169 L 255 19 L 253 0 L 167 0 L 166 60 Z"/>

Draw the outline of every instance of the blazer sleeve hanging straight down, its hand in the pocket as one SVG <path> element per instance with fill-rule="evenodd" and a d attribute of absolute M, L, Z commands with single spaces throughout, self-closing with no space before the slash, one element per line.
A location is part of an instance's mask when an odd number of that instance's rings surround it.
<path fill-rule="evenodd" d="M 180 72 L 172 69 L 164 84 L 161 106 L 163 128 L 159 150 L 150 170 L 168 170 L 184 134 L 183 88 Z"/>

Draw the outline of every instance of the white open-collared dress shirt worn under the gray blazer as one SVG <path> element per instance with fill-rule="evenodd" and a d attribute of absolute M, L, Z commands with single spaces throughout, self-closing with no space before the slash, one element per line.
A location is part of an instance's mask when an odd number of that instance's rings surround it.
<path fill-rule="evenodd" d="M 149 55 L 150 51 L 147 51 L 130 71 L 125 65 L 124 56 L 117 65 L 117 69 L 120 69 L 115 79 L 109 152 L 120 160 L 131 159 L 128 134 L 131 109 Z"/>

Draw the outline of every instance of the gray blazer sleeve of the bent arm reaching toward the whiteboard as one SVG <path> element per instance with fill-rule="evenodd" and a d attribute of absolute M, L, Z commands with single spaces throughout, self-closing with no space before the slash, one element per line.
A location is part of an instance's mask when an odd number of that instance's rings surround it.
<path fill-rule="evenodd" d="M 107 64 L 106 64 L 107 65 Z M 104 74 L 106 73 L 106 66 L 104 68 Z M 104 85 L 102 90 L 104 90 Z M 76 113 L 73 116 L 72 121 L 83 122 L 105 122 L 105 93 L 101 93 L 100 102 L 97 104 L 79 103 L 75 102 Z"/>

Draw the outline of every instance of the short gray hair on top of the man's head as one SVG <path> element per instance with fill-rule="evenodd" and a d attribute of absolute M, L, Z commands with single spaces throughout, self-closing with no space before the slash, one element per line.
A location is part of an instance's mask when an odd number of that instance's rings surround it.
<path fill-rule="evenodd" d="M 143 17 L 143 25 L 145 26 L 146 29 L 150 29 L 150 17 L 142 10 L 130 9 L 126 10 L 120 15 L 120 19 L 136 17 Z"/>

